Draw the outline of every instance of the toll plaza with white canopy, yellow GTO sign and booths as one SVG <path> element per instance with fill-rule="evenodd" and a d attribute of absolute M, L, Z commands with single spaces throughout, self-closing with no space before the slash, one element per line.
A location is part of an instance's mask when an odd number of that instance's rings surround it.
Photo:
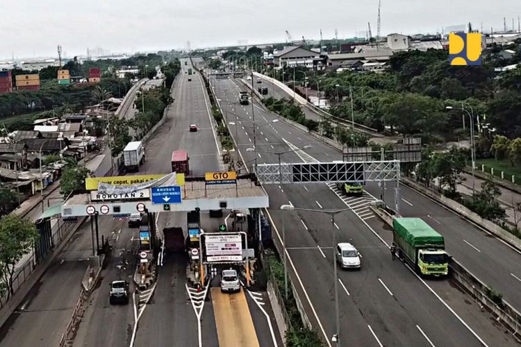
<path fill-rule="evenodd" d="M 138 288 L 146 289 L 154 280 L 156 263 L 161 264 L 169 252 L 188 255 L 187 278 L 192 287 L 207 285 L 217 264 L 233 264 L 249 285 L 250 264 L 263 237 L 260 209 L 268 206 L 268 196 L 254 174 L 226 171 L 190 178 L 182 174 L 87 178 L 85 191 L 69 196 L 61 208 L 64 218 L 87 216 L 96 226 L 99 216 L 129 221 L 138 218 L 140 249 L 134 281 Z M 186 224 L 159 230 L 159 212 L 185 212 L 182 218 L 186 216 Z M 226 237 L 240 235 L 239 249 L 235 250 L 238 254 L 230 255 L 229 250 L 213 246 L 208 259 L 204 235 L 210 237 L 214 232 L 222 234 L 225 241 Z"/>

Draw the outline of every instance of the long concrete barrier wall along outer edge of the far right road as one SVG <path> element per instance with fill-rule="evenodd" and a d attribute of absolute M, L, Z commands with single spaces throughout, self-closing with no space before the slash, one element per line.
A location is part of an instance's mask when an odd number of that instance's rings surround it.
<path fill-rule="evenodd" d="M 508 244 L 511 244 L 515 248 L 521 249 L 521 239 L 515 237 L 515 235 L 511 234 L 511 232 L 504 230 L 503 228 L 489 221 L 488 219 L 481 218 L 479 214 L 472 212 L 468 208 L 465 208 L 465 206 L 461 205 L 461 203 L 457 203 L 456 201 L 447 198 L 446 196 L 443 196 L 443 194 L 433 191 L 432 189 L 429 189 L 424 185 L 421 185 L 420 183 L 417 183 L 406 176 L 402 176 L 401 181 L 409 187 L 417 190 L 418 192 L 429 196 L 434 201 L 438 201 L 438 203 L 447 206 L 447 208 L 465 217 L 465 219 L 468 219 L 469 221 L 476 223 L 481 228 L 485 228 L 488 232 L 499 237 Z"/>

